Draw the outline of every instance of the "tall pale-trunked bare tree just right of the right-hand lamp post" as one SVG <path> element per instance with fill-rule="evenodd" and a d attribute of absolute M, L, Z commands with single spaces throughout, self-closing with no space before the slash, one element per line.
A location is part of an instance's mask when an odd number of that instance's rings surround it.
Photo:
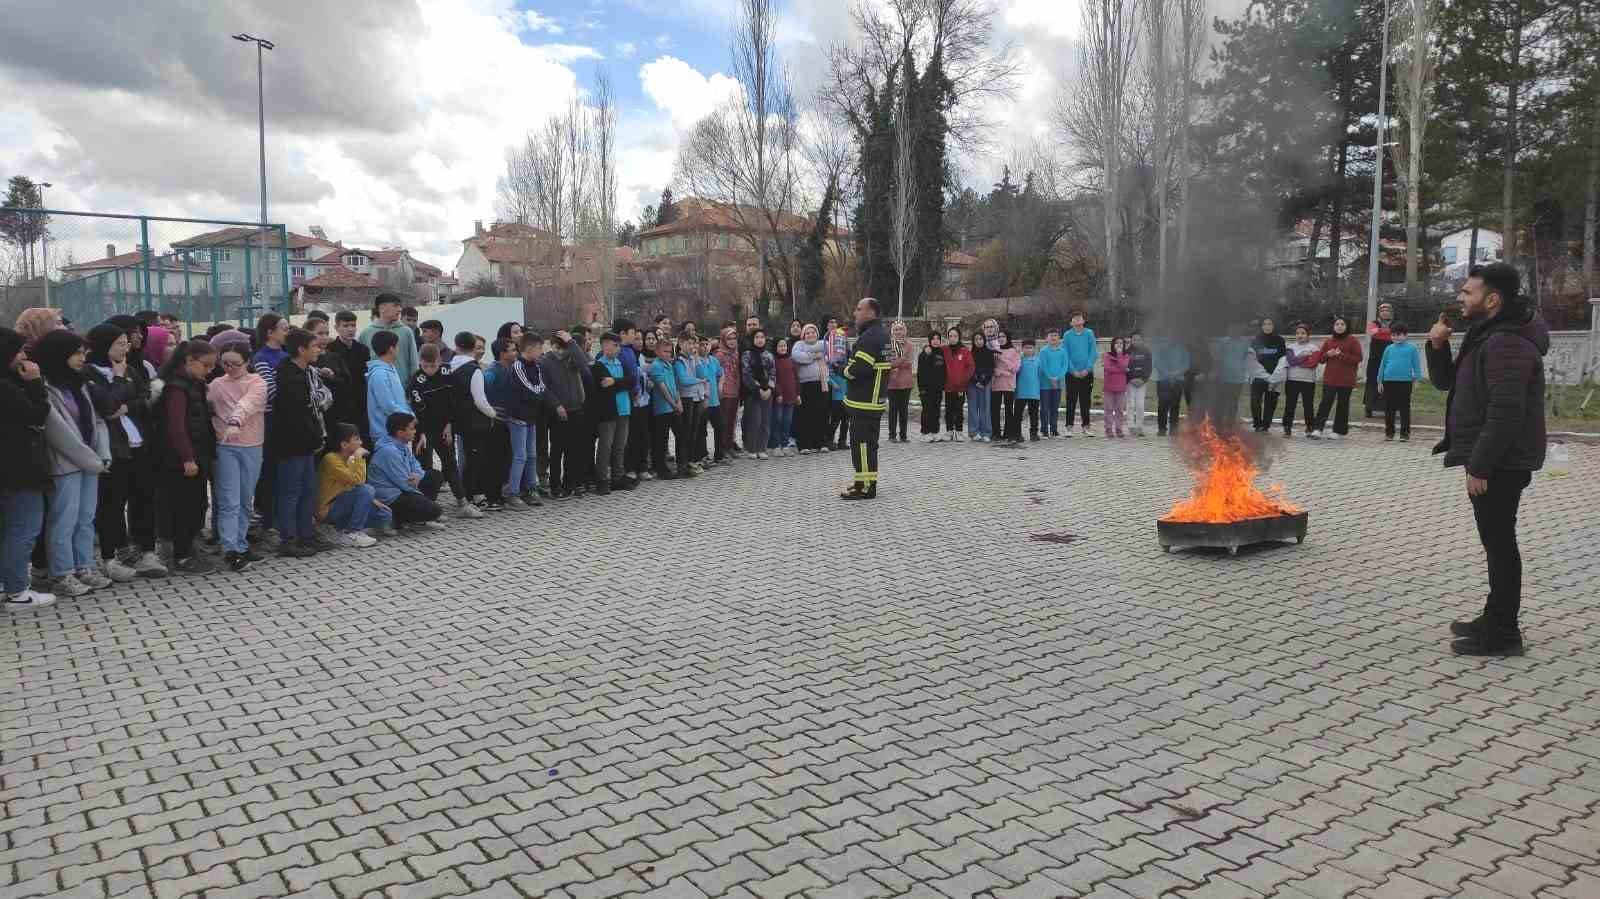
<path fill-rule="evenodd" d="M 1400 0 L 1400 27 L 1405 29 L 1395 66 L 1395 91 L 1400 94 L 1402 141 L 1395 144 L 1395 170 L 1405 192 L 1405 291 L 1416 298 L 1422 267 L 1422 133 L 1434 114 L 1434 70 L 1438 48 L 1434 32 L 1438 24 L 1440 0 Z"/>

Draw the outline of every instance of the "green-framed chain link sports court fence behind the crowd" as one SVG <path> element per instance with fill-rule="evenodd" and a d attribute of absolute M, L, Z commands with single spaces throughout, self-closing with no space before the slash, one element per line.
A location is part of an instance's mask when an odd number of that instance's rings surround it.
<path fill-rule="evenodd" d="M 19 208 L 0 208 L 0 222 L 22 226 L 3 229 L 5 322 L 30 306 L 83 328 L 149 309 L 200 333 L 290 312 L 294 259 L 282 224 Z"/>

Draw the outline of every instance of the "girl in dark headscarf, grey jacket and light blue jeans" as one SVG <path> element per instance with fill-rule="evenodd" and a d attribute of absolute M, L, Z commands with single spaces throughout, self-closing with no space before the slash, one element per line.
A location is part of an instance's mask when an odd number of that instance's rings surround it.
<path fill-rule="evenodd" d="M 38 362 L 50 398 L 45 442 L 54 494 L 45 513 L 50 592 L 82 597 L 110 585 L 94 560 L 99 475 L 110 467 L 110 435 L 85 384 L 86 346 L 70 331 L 51 331 L 29 355 Z"/>

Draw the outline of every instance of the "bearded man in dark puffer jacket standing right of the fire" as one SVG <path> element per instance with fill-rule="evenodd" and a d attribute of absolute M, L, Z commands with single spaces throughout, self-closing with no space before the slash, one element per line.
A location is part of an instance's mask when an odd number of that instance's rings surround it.
<path fill-rule="evenodd" d="M 1467 469 L 1467 496 L 1488 557 L 1490 597 L 1483 614 L 1458 621 L 1451 645 L 1462 656 L 1520 656 L 1522 553 L 1517 505 L 1533 472 L 1544 467 L 1544 354 L 1550 330 L 1517 293 L 1520 277 L 1504 262 L 1474 267 L 1461 286 L 1461 312 L 1472 325 L 1454 360 L 1450 325 L 1440 314 L 1427 338 L 1427 374 L 1450 390 L 1445 438 L 1434 453 L 1445 467 Z"/>

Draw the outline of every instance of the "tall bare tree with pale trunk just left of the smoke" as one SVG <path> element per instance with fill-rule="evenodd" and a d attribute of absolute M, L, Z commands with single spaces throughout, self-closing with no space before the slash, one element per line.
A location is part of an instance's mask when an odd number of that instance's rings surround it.
<path fill-rule="evenodd" d="M 1107 302 L 1122 299 L 1118 243 L 1122 232 L 1122 136 L 1128 83 L 1139 48 L 1139 0 L 1083 0 L 1083 38 L 1077 80 L 1058 86 L 1056 123 L 1101 163 L 1106 219 Z"/>

